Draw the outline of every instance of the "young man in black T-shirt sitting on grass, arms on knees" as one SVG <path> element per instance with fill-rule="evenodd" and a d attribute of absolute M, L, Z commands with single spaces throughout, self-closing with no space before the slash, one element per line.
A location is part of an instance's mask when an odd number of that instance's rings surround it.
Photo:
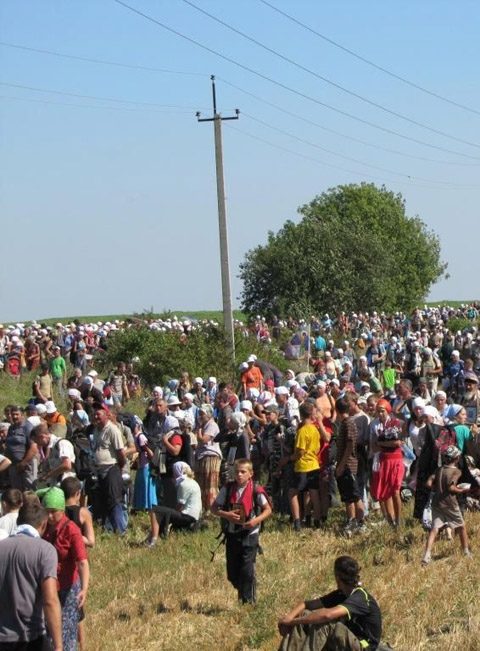
<path fill-rule="evenodd" d="M 303 601 L 278 622 L 279 651 L 373 651 L 380 644 L 382 615 L 360 584 L 360 568 L 351 556 L 334 564 L 337 590 Z"/>

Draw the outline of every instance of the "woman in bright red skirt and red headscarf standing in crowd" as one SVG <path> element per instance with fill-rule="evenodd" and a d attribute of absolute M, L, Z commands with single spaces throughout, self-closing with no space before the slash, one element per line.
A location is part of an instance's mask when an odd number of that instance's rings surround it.
<path fill-rule="evenodd" d="M 387 521 L 398 526 L 402 509 L 400 490 L 405 472 L 402 421 L 392 416 L 392 406 L 381 399 L 370 428 L 370 449 L 375 454 L 370 492 L 380 502 Z"/>

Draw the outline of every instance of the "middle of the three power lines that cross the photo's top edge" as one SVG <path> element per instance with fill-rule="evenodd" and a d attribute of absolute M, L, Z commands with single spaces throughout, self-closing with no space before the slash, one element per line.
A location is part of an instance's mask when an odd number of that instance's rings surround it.
<path fill-rule="evenodd" d="M 290 63 L 291 65 L 295 66 L 296 68 L 303 70 L 303 72 L 307 72 L 308 74 L 312 75 L 316 79 L 320 79 L 320 81 L 325 82 L 326 84 L 329 84 L 330 86 L 333 86 L 334 88 L 337 88 L 338 90 L 341 90 L 344 93 L 347 93 L 348 95 L 351 95 L 352 97 L 355 97 L 356 99 L 361 100 L 362 102 L 365 102 L 366 104 L 369 104 L 370 106 L 374 106 L 375 108 L 380 109 L 381 111 L 385 111 L 386 113 L 393 115 L 401 120 L 405 120 L 406 122 L 409 122 L 410 124 L 414 124 L 417 127 L 420 127 L 421 129 L 426 129 L 427 131 L 431 131 L 432 133 L 436 133 L 437 135 L 443 136 L 445 138 L 449 138 L 450 140 L 455 140 L 456 142 L 461 142 L 464 145 L 470 145 L 471 147 L 477 147 L 480 149 L 480 145 L 477 143 L 470 142 L 468 140 L 463 140 L 462 138 L 458 138 L 457 136 L 452 136 L 449 133 L 446 133 L 445 131 L 441 131 L 440 129 L 435 129 L 434 127 L 428 126 L 428 124 L 423 124 L 422 122 L 418 122 L 417 120 L 414 120 L 413 118 L 409 118 L 406 115 L 403 115 L 402 113 L 397 113 L 397 111 L 394 111 L 392 109 L 389 109 L 386 106 L 383 106 L 383 104 L 379 104 L 378 102 L 374 102 L 373 100 L 368 99 L 368 97 L 364 97 L 363 95 L 360 95 L 359 93 L 356 93 L 353 90 L 350 90 L 349 88 L 346 88 L 345 86 L 342 86 L 341 84 L 338 84 L 335 81 L 332 81 L 331 79 L 328 79 L 327 77 L 323 77 L 322 75 L 318 74 L 311 68 L 307 68 L 306 66 L 302 65 L 301 63 L 298 63 L 298 61 L 294 61 L 293 59 L 290 59 L 290 57 L 287 57 L 280 52 L 277 52 L 277 50 L 274 50 L 271 47 L 268 47 L 264 43 L 261 43 L 260 41 L 257 41 L 256 39 L 252 38 L 248 34 L 245 34 L 245 32 L 240 31 L 239 29 L 236 29 L 232 25 L 229 25 L 225 21 L 221 20 L 220 18 L 217 18 L 213 14 L 209 13 L 208 11 L 205 11 L 201 7 L 198 7 L 196 4 L 191 2 L 191 0 L 182 0 L 185 4 L 189 5 L 196 11 L 199 11 L 201 14 L 204 14 L 205 16 L 208 16 L 215 22 L 219 23 L 220 25 L 223 25 L 227 29 L 231 30 L 235 34 L 238 34 L 242 38 L 245 38 L 247 41 L 250 41 L 251 43 L 255 43 L 255 45 L 258 45 L 258 47 L 261 47 L 262 49 L 266 50 L 267 52 L 270 52 L 274 56 L 278 57 L 279 59 L 282 59 L 282 61 L 286 61 L 287 63 Z"/>

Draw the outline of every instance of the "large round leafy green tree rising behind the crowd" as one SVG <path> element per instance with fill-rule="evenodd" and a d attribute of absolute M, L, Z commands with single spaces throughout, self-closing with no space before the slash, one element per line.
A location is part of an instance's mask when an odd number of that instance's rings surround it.
<path fill-rule="evenodd" d="M 299 208 L 240 265 L 242 308 L 306 316 L 410 310 L 445 273 L 440 242 L 405 201 L 374 184 L 341 185 Z"/>

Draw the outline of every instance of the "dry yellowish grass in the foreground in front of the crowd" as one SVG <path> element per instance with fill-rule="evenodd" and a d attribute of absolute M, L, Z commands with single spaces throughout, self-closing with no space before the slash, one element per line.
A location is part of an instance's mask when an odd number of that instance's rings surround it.
<path fill-rule="evenodd" d="M 334 521 L 340 519 L 337 510 Z M 467 522 L 475 550 L 480 515 L 468 514 Z M 398 532 L 381 527 L 347 540 L 335 523 L 325 533 L 297 536 L 275 518 L 262 534 L 255 607 L 236 602 L 224 548 L 210 561 L 217 523 L 198 534 L 173 534 L 152 550 L 137 546 L 147 527 L 146 517 L 136 516 L 125 538 L 100 537 L 91 553 L 91 651 L 276 649 L 277 620 L 296 602 L 334 587 L 340 554 L 360 561 L 363 585 L 383 612 L 383 639 L 397 651 L 480 649 L 478 557 L 463 557 L 458 540 L 440 540 L 432 564 L 422 568 L 424 534 L 409 519 Z"/>

